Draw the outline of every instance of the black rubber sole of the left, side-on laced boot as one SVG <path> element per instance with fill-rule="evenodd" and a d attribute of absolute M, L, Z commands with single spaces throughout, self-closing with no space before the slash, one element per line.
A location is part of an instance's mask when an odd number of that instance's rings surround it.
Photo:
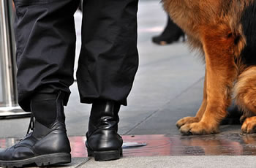
<path fill-rule="evenodd" d="M 49 166 L 53 164 L 68 164 L 71 162 L 70 153 L 55 153 L 42 156 L 36 156 L 30 159 L 17 161 L 1 161 L 0 167 L 24 167 L 29 164 L 37 164 L 38 167 Z"/>

